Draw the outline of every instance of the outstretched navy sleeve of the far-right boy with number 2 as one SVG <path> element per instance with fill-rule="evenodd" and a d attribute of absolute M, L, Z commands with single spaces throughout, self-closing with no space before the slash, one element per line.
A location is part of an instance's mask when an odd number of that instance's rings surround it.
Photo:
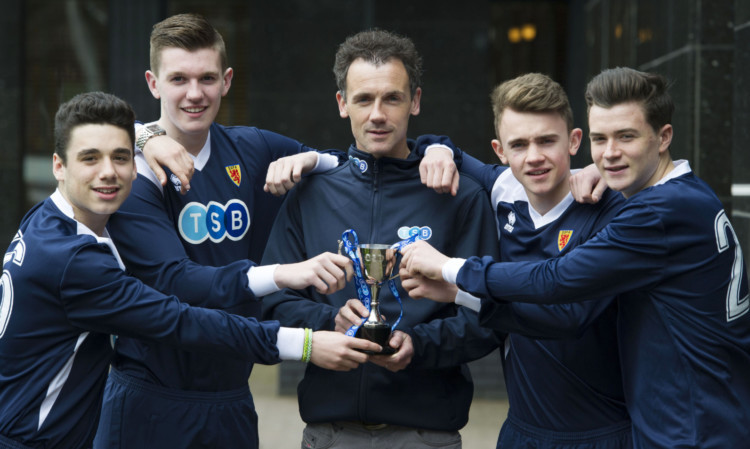
<path fill-rule="evenodd" d="M 472 257 L 458 285 L 488 299 L 542 304 L 616 296 L 659 281 L 669 252 L 665 236 L 658 213 L 630 202 L 599 234 L 560 258 L 501 263 Z"/>

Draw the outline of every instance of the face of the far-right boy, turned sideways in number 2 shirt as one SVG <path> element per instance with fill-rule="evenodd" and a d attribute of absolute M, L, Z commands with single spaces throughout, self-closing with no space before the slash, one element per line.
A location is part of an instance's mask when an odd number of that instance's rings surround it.
<path fill-rule="evenodd" d="M 669 148 L 672 125 L 655 132 L 639 103 L 589 109 L 591 157 L 610 188 L 627 198 L 659 181 L 659 158 Z"/>

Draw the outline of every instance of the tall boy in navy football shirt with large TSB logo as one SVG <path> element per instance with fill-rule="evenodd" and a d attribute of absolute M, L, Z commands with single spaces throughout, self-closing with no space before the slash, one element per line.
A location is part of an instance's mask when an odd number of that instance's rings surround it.
<path fill-rule="evenodd" d="M 168 17 L 154 25 L 150 54 L 146 81 L 161 117 L 139 127 L 137 145 L 148 153 L 179 144 L 195 173 L 183 195 L 174 173 L 162 187 L 143 154 L 136 155 L 133 193 L 108 226 L 129 272 L 192 305 L 248 317 L 259 317 L 259 298 L 280 287 L 341 288 L 350 264 L 338 254 L 314 255 L 306 265 L 254 262 L 281 204 L 263 191 L 266 169 L 309 148 L 270 131 L 214 122 L 234 75 L 218 31 L 198 15 Z M 295 329 L 294 338 L 303 332 Z M 125 336 L 115 351 L 96 448 L 258 446 L 252 364 Z M 351 363 L 354 352 L 347 344 L 329 355 Z"/>

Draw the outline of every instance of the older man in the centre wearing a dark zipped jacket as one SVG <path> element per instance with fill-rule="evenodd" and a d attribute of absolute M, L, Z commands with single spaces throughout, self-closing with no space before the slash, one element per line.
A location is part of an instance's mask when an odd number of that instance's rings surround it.
<path fill-rule="evenodd" d="M 349 162 L 303 179 L 288 194 L 264 264 L 335 251 L 347 229 L 361 244 L 392 244 L 418 233 L 453 255 L 496 252 L 492 211 L 478 184 L 466 179 L 456 197 L 421 184 L 415 143 L 406 139 L 409 116 L 419 113 L 415 59 L 410 40 L 383 31 L 342 44 L 334 68 L 337 99 L 356 145 Z M 413 300 L 396 285 L 403 318 L 390 340 L 394 355 L 371 357 L 372 364 L 343 374 L 308 367 L 298 388 L 308 424 L 303 447 L 461 447 L 458 430 L 468 421 L 473 393 L 466 362 L 497 344 L 476 313 Z M 356 297 L 353 284 L 327 296 L 285 289 L 264 298 L 263 315 L 282 326 L 345 331 L 367 315 Z M 388 287 L 379 301 L 393 324 L 401 308 Z"/>

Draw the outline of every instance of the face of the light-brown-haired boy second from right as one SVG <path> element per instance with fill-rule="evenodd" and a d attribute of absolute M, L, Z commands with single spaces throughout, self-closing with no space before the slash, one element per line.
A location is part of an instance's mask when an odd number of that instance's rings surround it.
<path fill-rule="evenodd" d="M 570 191 L 570 156 L 581 144 L 581 130 L 568 133 L 556 112 L 505 109 L 498 135 L 500 140 L 492 141 L 495 153 L 510 165 L 537 212 L 546 213 Z"/>

